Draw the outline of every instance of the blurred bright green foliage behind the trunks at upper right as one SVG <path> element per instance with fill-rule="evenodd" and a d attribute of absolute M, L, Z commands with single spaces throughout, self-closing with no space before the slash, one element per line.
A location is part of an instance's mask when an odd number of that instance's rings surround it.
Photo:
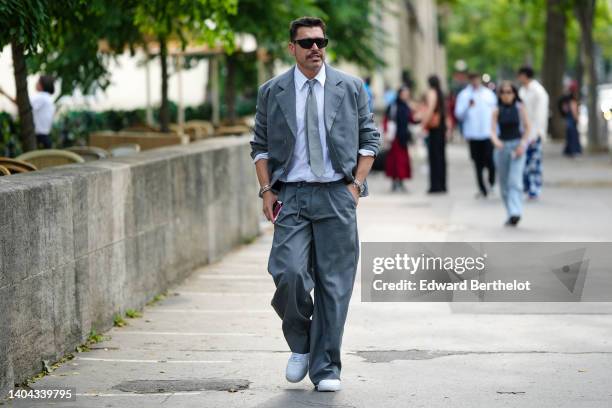
<path fill-rule="evenodd" d="M 573 7 L 581 0 L 565 0 L 568 62 L 578 58 L 580 30 Z M 493 77 L 512 76 L 522 64 L 542 66 L 546 32 L 545 0 L 438 0 L 450 13 L 445 24 L 448 72 L 457 60 L 471 70 Z M 612 59 L 612 11 L 609 2 L 597 2 L 593 36 L 604 59 Z"/>

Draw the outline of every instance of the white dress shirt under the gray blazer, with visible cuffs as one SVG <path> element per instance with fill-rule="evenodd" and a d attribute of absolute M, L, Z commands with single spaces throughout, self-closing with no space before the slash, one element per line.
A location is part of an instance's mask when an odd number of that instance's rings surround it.
<path fill-rule="evenodd" d="M 317 100 L 317 116 L 319 119 L 319 137 L 321 139 L 321 147 L 323 148 L 323 163 L 325 171 L 321 177 L 315 176 L 310 170 L 308 164 L 308 143 L 306 140 L 306 99 L 308 98 L 308 78 L 296 66 L 293 70 L 293 81 L 295 84 L 295 113 L 297 119 L 297 135 L 293 155 L 289 162 L 287 172 L 281 176 L 280 181 L 284 182 L 330 182 L 342 179 L 344 176 L 334 170 L 331 159 L 329 157 L 329 149 L 327 147 L 327 131 L 325 130 L 325 64 L 321 66 L 319 73 L 313 78 L 316 80 L 313 86 L 314 96 Z M 360 149 L 359 154 L 362 156 L 374 156 L 374 152 L 366 149 Z M 267 153 L 260 153 L 255 156 L 254 162 L 260 159 L 267 159 Z"/>

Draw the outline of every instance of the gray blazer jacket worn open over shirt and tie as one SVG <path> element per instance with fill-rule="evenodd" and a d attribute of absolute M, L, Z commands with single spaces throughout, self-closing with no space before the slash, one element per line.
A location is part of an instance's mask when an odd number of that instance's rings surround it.
<path fill-rule="evenodd" d="M 270 184 L 279 190 L 279 178 L 289 167 L 297 135 L 293 70 L 272 78 L 259 88 L 251 157 L 268 153 Z M 354 179 L 359 149 L 378 154 L 380 133 L 368 107 L 361 79 L 325 66 L 325 128 L 334 170 Z M 364 196 L 368 195 L 367 183 Z"/>

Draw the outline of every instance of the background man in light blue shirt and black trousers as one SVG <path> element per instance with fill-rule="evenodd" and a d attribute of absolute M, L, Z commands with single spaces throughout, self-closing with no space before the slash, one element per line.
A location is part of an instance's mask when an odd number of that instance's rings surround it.
<path fill-rule="evenodd" d="M 470 144 L 470 156 L 476 169 L 479 193 L 477 197 L 487 197 L 488 189 L 483 180 L 483 170 L 489 174 L 489 189 L 495 184 L 495 164 L 493 163 L 493 144 L 491 143 L 491 119 L 497 106 L 493 91 L 482 86 L 480 75 L 471 73 L 470 84 L 457 96 L 455 117 L 462 122 L 463 137 Z"/>

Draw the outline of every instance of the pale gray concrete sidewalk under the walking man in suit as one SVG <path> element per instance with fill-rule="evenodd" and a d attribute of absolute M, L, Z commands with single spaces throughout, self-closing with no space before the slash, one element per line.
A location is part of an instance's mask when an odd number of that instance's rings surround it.
<path fill-rule="evenodd" d="M 361 241 L 612 241 L 612 164 L 564 159 L 560 149 L 547 146 L 543 197 L 526 204 L 517 229 L 503 227 L 499 198 L 474 199 L 462 144 L 448 149 L 445 196 L 424 193 L 418 158 L 408 194 L 391 193 L 374 174 L 372 195 L 359 204 Z M 289 384 L 269 305 L 271 239 L 267 227 L 255 243 L 194 271 L 142 318 L 33 387 L 76 387 L 76 402 L 52 406 L 79 408 L 612 406 L 612 304 L 361 303 L 359 278 L 343 391 Z"/>

